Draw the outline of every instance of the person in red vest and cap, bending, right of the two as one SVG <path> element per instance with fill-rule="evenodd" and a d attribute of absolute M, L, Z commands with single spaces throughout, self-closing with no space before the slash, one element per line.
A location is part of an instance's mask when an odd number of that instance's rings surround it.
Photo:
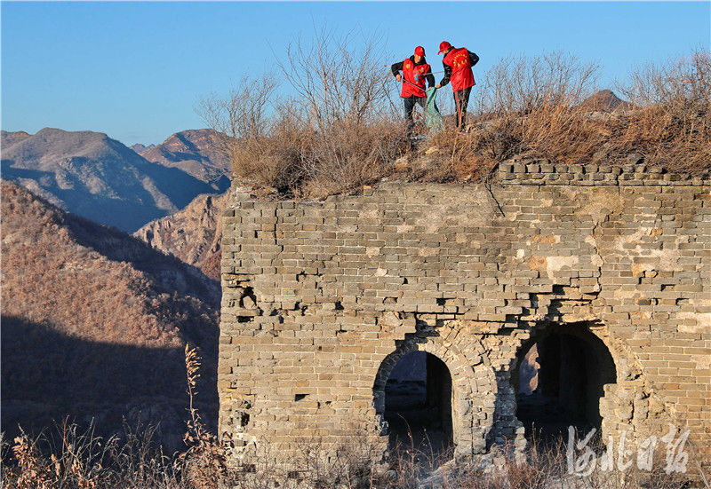
<path fill-rule="evenodd" d="M 444 53 L 442 64 L 444 77 L 436 88 L 442 88 L 451 81 L 451 90 L 454 92 L 454 105 L 457 107 L 457 129 L 464 130 L 467 122 L 467 105 L 469 94 L 474 83 L 472 67 L 479 61 L 479 57 L 467 48 L 455 48 L 450 43 L 439 43 L 439 53 Z"/>

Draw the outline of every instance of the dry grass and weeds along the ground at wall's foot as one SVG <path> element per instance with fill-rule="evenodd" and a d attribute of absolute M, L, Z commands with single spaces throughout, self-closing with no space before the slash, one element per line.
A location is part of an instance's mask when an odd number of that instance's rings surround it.
<path fill-rule="evenodd" d="M 398 446 L 383 463 L 371 437 L 351 437 L 340 446 L 317 438 L 300 444 L 292 457 L 292 467 L 282 469 L 271 463 L 273 457 L 245 459 L 230 464 L 228 447 L 204 426 L 194 406 L 201 359 L 196 351 L 185 349 L 188 385 L 186 450 L 166 456 L 153 443 L 155 430 L 124 430 L 121 437 L 97 437 L 93 427 L 81 432 L 64 422 L 58 437 L 29 438 L 24 432 L 14 439 L 12 454 L 0 437 L 2 484 L 17 489 L 54 488 L 192 488 L 236 489 L 296 488 L 313 489 L 525 489 L 561 487 L 571 489 L 682 489 L 686 477 L 667 475 L 665 454 L 655 454 L 651 471 L 625 472 L 596 470 L 587 477 L 571 476 L 563 439 L 540 446 L 534 439 L 525 457 L 515 456 L 513 444 L 492 447 L 497 469 L 480 464 L 451 460 L 451 451 L 435 453 L 427 444 Z M 410 438 L 412 440 L 412 437 Z M 601 446 L 595 450 L 600 453 Z M 448 461 L 450 460 L 450 461 Z"/>

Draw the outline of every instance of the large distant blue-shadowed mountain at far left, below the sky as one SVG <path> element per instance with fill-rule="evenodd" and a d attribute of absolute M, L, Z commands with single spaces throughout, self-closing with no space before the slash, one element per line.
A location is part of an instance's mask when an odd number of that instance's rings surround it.
<path fill-rule="evenodd" d="M 148 162 L 99 132 L 43 129 L 7 138 L 12 144 L 3 145 L 4 178 L 76 215 L 127 232 L 182 209 L 200 193 L 214 192 L 185 171 Z"/>

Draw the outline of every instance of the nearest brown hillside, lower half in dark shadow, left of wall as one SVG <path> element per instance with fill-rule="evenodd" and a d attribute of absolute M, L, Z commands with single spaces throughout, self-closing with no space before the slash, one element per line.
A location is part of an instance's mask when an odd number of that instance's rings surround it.
<path fill-rule="evenodd" d="M 202 350 L 213 421 L 219 284 L 17 185 L 2 193 L 2 430 L 71 415 L 110 431 L 125 416 L 180 445 L 186 342 Z"/>

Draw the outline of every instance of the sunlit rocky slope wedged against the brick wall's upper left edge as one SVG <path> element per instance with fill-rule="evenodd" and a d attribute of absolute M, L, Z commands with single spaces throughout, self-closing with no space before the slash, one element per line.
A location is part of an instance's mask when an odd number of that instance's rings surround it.
<path fill-rule="evenodd" d="M 133 235 L 220 280 L 222 210 L 227 202 L 228 193 L 200 195 L 180 212 L 152 221 Z"/>

